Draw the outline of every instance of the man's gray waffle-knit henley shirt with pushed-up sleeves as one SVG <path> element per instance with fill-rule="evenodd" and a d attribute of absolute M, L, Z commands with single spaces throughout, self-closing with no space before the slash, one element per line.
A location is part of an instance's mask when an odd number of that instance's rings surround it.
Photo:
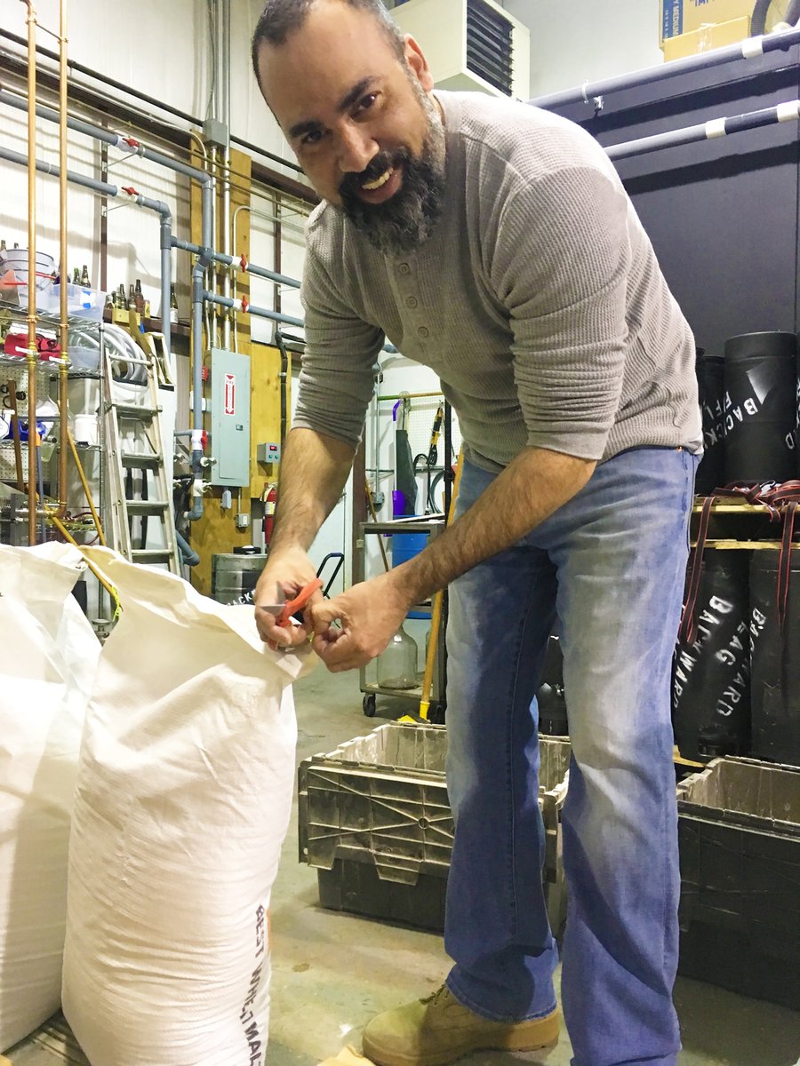
<path fill-rule="evenodd" d="M 438 374 L 484 469 L 526 446 L 699 451 L 694 340 L 606 154 L 540 109 L 436 96 L 446 189 L 427 242 L 386 257 L 330 205 L 309 219 L 292 424 L 356 445 L 385 337 Z"/>

